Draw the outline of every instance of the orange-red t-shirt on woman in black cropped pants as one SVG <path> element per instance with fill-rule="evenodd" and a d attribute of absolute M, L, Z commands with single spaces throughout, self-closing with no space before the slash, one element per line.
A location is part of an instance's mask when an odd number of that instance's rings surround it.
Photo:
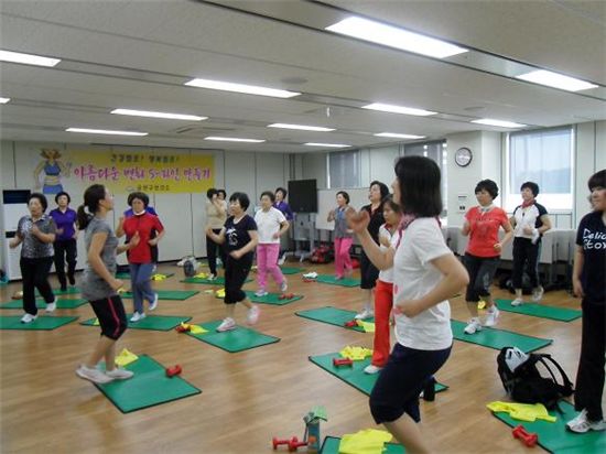
<path fill-rule="evenodd" d="M 509 223 L 507 213 L 499 207 L 481 213 L 481 209 L 475 206 L 469 208 L 465 218 L 469 223 L 467 252 L 476 257 L 499 257 L 500 253 L 494 246 L 499 242 L 499 227 Z"/>

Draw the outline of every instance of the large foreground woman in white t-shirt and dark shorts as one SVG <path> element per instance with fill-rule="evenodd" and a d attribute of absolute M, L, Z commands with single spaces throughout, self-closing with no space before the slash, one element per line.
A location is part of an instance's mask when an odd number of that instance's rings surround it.
<path fill-rule="evenodd" d="M 370 394 L 370 411 L 405 446 L 429 452 L 421 420 L 419 394 L 446 363 L 453 344 L 448 298 L 469 281 L 467 271 L 442 236 L 440 169 L 423 156 L 404 156 L 396 163 L 393 201 L 402 207 L 401 240 L 381 251 L 367 231 L 368 213 L 349 217 L 368 258 L 379 269 L 393 267 L 393 314 L 397 344 Z"/>

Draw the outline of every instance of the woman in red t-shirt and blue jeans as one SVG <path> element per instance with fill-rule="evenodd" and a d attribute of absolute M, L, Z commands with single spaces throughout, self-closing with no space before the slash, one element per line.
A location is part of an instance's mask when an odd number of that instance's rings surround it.
<path fill-rule="evenodd" d="M 133 216 L 120 219 L 117 231 L 127 234 L 131 238 L 136 233 L 139 234 L 139 245 L 128 252 L 128 262 L 130 268 L 130 282 L 134 312 L 130 318 L 131 322 L 139 322 L 145 317 L 143 310 L 143 300 L 150 303 L 150 311 L 158 306 L 158 293 L 151 287 L 151 275 L 155 267 L 155 260 L 152 255 L 152 247 L 164 236 L 164 226 L 159 217 L 148 213 L 147 208 L 150 198 L 145 193 L 132 193 L 129 196 L 129 205 L 132 208 Z M 152 233 L 155 237 L 152 238 Z"/>

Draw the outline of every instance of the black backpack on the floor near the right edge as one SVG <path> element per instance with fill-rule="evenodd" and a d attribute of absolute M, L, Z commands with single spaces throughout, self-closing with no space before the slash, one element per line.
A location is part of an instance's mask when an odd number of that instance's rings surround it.
<path fill-rule="evenodd" d="M 516 402 L 542 403 L 552 410 L 558 408 L 560 399 L 570 397 L 574 392 L 566 372 L 549 354 L 531 353 L 526 361 L 511 371 L 506 361 L 510 348 L 512 347 L 501 348 L 497 356 L 497 368 L 505 390 Z M 558 369 L 563 385 L 558 381 L 548 361 Z M 538 363 L 543 365 L 550 377 L 545 378 L 541 375 L 537 368 Z"/>

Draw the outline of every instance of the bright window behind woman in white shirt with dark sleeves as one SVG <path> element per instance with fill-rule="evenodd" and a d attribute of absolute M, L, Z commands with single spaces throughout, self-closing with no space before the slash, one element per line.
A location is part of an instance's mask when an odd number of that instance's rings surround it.
<path fill-rule="evenodd" d="M 573 130 L 571 127 L 509 134 L 506 209 L 521 202 L 524 182 L 539 185 L 539 203 L 549 210 L 573 207 Z"/>

